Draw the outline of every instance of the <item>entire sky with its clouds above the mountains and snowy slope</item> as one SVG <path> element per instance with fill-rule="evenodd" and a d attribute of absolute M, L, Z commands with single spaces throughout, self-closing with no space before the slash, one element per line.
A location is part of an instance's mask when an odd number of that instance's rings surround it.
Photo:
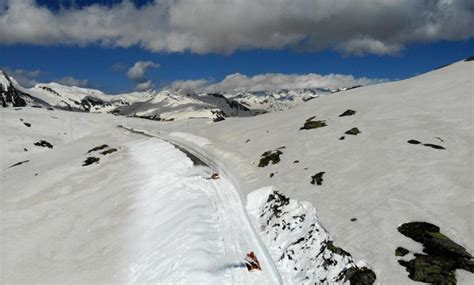
<path fill-rule="evenodd" d="M 470 0 L 0 0 L 0 68 L 108 93 L 325 88 L 474 55 Z"/>

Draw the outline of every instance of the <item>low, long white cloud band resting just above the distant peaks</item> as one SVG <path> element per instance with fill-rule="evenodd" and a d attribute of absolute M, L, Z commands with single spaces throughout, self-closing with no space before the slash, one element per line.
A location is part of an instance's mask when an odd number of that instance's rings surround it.
<path fill-rule="evenodd" d="M 328 74 L 282 74 L 266 73 L 255 76 L 246 76 L 234 73 L 226 76 L 222 81 L 212 83 L 209 80 L 178 80 L 172 82 L 166 89 L 191 89 L 196 92 L 243 92 L 278 89 L 324 88 L 336 89 L 369 85 L 383 82 L 383 79 L 366 77 L 354 78 L 352 75 Z"/>

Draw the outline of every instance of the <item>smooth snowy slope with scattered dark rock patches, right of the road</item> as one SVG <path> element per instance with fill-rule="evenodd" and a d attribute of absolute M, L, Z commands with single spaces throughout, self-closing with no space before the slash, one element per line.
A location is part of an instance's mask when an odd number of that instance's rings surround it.
<path fill-rule="evenodd" d="M 398 261 L 421 253 L 421 246 L 397 231 L 401 224 L 435 224 L 474 251 L 473 69 L 473 61 L 457 62 L 215 125 L 135 127 L 207 139 L 200 148 L 225 162 L 244 193 L 273 185 L 291 199 L 311 202 L 337 245 L 367 261 L 377 282 L 411 284 Z M 399 246 L 410 253 L 397 257 Z M 474 283 L 467 271 L 456 270 L 456 277 L 460 284 Z"/>

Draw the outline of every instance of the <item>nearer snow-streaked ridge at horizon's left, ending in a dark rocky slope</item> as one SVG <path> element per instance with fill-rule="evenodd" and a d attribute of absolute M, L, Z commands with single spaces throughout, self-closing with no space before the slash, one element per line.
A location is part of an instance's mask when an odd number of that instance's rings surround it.
<path fill-rule="evenodd" d="M 65 86 L 55 82 L 24 88 L 4 71 L 1 75 L 0 90 L 4 107 L 36 104 L 68 111 L 111 112 L 116 115 L 167 121 L 185 118 L 211 118 L 218 121 L 225 117 L 253 116 L 265 112 L 259 109 L 250 110 L 220 94 L 150 90 L 108 95 L 96 89 Z"/>

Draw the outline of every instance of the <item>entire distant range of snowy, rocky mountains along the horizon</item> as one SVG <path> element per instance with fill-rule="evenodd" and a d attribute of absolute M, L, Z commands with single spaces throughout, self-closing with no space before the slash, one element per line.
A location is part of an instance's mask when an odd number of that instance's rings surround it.
<path fill-rule="evenodd" d="M 18 96 L 6 95 L 4 106 L 25 105 L 41 102 L 68 111 L 95 113 L 112 112 L 117 115 L 148 118 L 153 120 L 179 120 L 184 118 L 246 117 L 266 112 L 294 108 L 321 95 L 339 90 L 329 89 L 281 89 L 260 92 L 194 93 L 189 90 L 163 90 L 160 92 L 132 92 L 109 95 L 100 90 L 59 83 L 39 83 L 32 88 L 20 86 L 2 71 L 2 90 L 15 90 Z M 13 82 L 10 84 L 10 81 Z M 9 91 L 10 93 L 12 91 Z M 11 93 L 11 94 L 16 94 Z M 29 96 L 28 96 L 29 95 Z M 18 103 L 16 102 L 15 98 Z M 37 99 L 37 100 L 36 100 Z M 13 101 L 12 101 L 13 100 Z M 25 104 L 22 102 L 25 101 Z M 10 102 L 7 104 L 6 102 Z"/>

